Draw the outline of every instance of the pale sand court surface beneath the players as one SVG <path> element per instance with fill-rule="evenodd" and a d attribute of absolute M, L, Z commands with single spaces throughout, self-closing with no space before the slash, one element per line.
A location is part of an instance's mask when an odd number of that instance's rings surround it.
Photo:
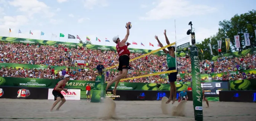
<path fill-rule="evenodd" d="M 67 100 L 60 111 L 49 112 L 53 100 L 0 99 L 0 121 L 194 121 L 193 102 L 186 103 L 185 117 L 162 114 L 161 101 L 115 101 L 117 119 L 97 119 L 99 103 Z M 175 102 L 173 105 L 177 105 Z M 170 108 L 173 105 L 169 105 Z M 255 121 L 256 104 L 209 102 L 205 121 Z M 203 107 L 206 107 L 203 102 Z M 54 109 L 55 110 L 55 109 Z M 12 119 L 17 118 L 17 119 Z"/>

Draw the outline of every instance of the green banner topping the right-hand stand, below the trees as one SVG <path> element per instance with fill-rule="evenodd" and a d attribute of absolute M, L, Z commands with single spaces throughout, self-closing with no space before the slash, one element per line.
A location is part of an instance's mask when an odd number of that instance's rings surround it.
<path fill-rule="evenodd" d="M 246 56 L 248 53 L 249 54 L 256 53 L 256 48 L 250 48 L 250 49 L 246 49 L 243 51 L 237 51 L 237 52 L 233 52 L 233 53 L 226 53 L 223 55 L 214 56 L 214 57 L 212 57 L 212 60 L 217 61 L 217 59 L 220 57 L 227 57 L 227 58 L 241 57 L 241 56 Z"/>

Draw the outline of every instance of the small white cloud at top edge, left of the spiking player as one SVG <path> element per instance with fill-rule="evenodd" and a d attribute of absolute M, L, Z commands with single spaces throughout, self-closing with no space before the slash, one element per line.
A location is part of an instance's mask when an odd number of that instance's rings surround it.
<path fill-rule="evenodd" d="M 83 0 L 86 9 L 93 9 L 94 6 L 106 7 L 108 3 L 106 0 Z"/>

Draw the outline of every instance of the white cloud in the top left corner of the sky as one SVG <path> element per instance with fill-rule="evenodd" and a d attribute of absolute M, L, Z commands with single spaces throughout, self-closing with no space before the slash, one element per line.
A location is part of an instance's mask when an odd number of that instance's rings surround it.
<path fill-rule="evenodd" d="M 35 13 L 43 13 L 44 17 L 54 16 L 50 7 L 38 0 L 13 0 L 9 1 L 9 4 L 18 7 L 19 11 L 27 13 L 28 16 L 32 16 Z"/>

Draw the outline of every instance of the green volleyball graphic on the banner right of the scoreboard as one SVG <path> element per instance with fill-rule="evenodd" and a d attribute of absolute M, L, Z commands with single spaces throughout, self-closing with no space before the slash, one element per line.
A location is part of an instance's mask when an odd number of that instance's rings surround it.
<path fill-rule="evenodd" d="M 230 88 L 232 90 L 247 90 L 247 88 L 251 85 L 249 80 L 235 80 L 230 83 Z"/>

